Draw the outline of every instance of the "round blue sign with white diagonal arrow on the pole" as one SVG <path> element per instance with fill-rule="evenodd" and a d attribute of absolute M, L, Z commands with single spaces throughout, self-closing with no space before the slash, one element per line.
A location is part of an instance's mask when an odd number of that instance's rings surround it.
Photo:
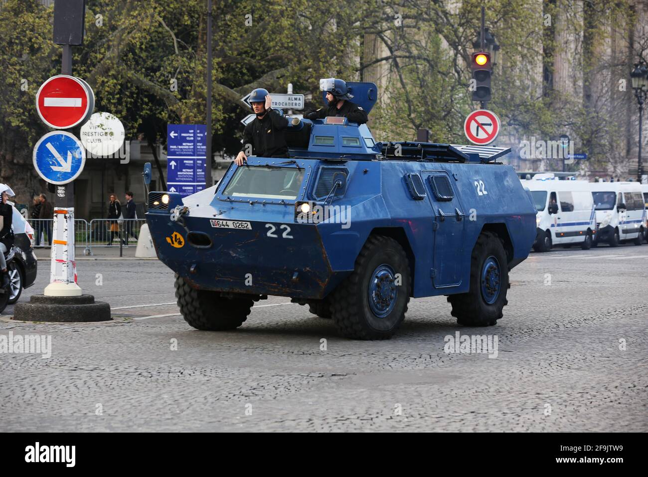
<path fill-rule="evenodd" d="M 86 165 L 86 150 L 67 131 L 48 132 L 34 146 L 34 167 L 43 180 L 59 186 L 75 180 Z"/>

